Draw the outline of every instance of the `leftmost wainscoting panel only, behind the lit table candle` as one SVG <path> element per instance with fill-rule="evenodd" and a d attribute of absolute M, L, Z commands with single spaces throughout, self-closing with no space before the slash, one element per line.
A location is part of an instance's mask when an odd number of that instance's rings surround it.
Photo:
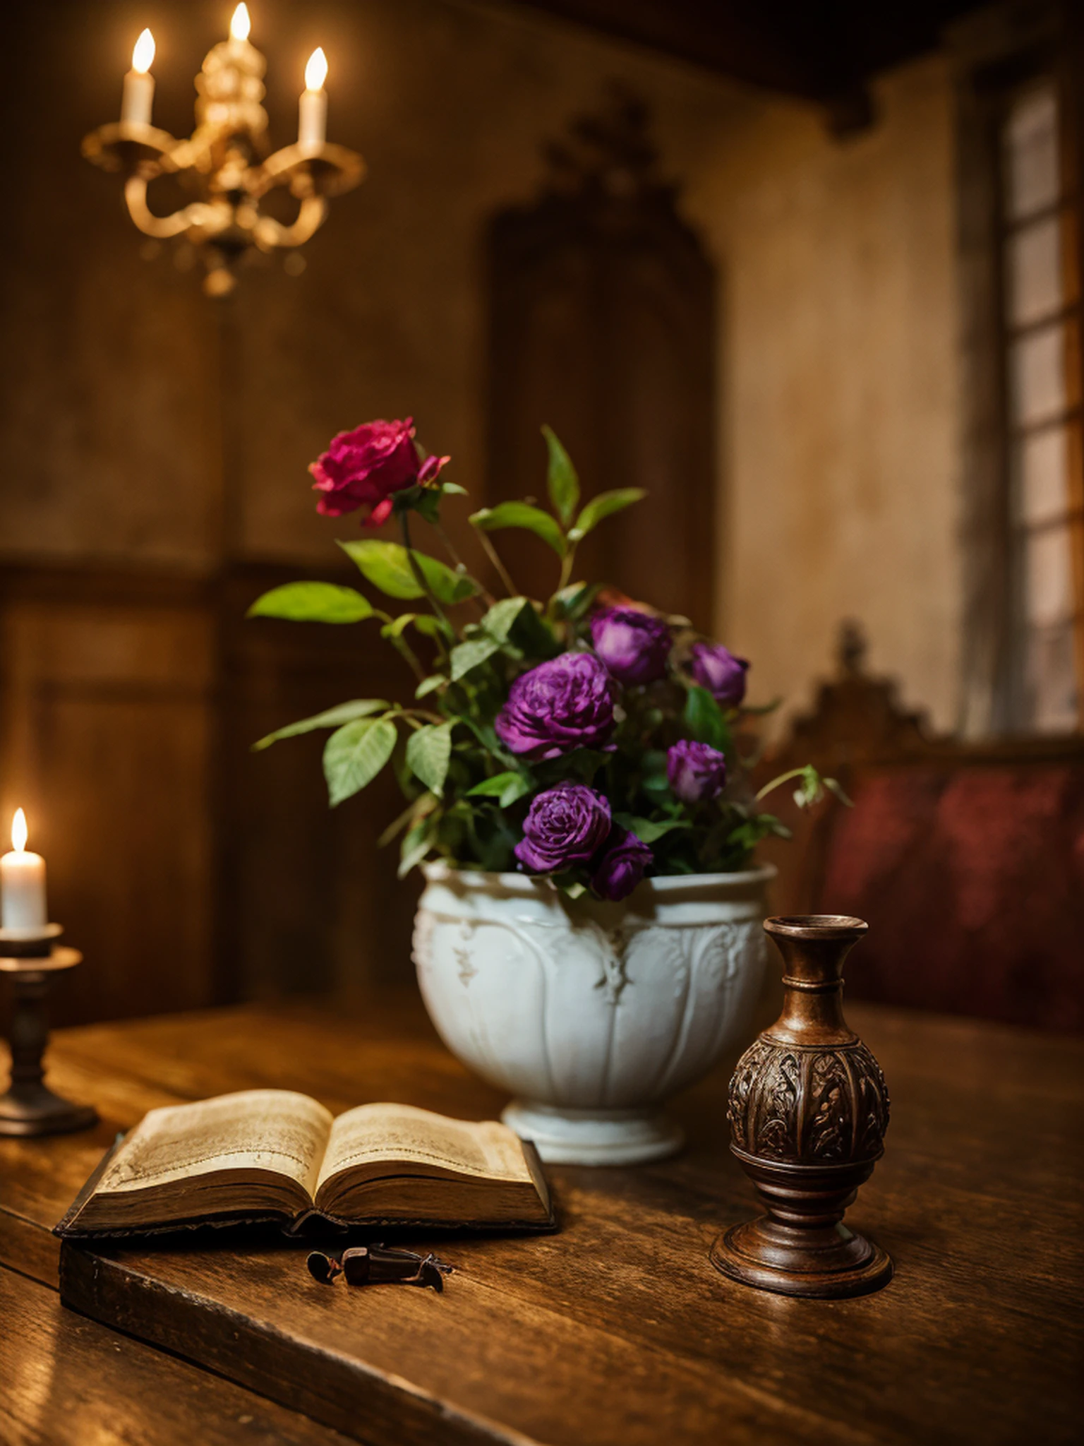
<path fill-rule="evenodd" d="M 189 580 L 10 570 L 0 830 L 26 808 L 87 966 L 58 1021 L 214 998 L 214 617 Z"/>

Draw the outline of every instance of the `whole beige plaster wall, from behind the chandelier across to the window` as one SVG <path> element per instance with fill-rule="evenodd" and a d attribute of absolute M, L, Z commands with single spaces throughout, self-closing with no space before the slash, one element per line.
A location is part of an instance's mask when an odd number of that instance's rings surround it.
<path fill-rule="evenodd" d="M 840 145 L 798 104 L 519 7 L 259 0 L 276 139 L 289 139 L 304 58 L 321 42 L 330 134 L 366 153 L 370 179 L 335 202 L 302 276 L 267 263 L 244 278 L 223 375 L 218 318 L 195 276 L 166 250 L 140 260 L 116 178 L 77 149 L 114 114 L 145 23 L 159 39 L 156 119 L 186 130 L 189 77 L 228 9 L 26 7 L 26 94 L 59 98 L 13 147 L 0 555 L 210 565 L 223 427 L 249 557 L 330 557 L 343 523 L 312 513 L 305 466 L 367 416 L 412 411 L 470 486 L 483 445 L 484 220 L 533 194 L 542 142 L 620 78 L 650 101 L 663 166 L 724 276 L 726 639 L 754 659 L 757 697 L 798 703 L 828 665 L 840 617 L 856 615 L 874 664 L 951 723 L 954 296 L 938 62 L 885 81 L 883 123 Z M 49 64 L 46 38 L 59 45 Z M 12 101 L 30 113 L 17 91 Z"/>

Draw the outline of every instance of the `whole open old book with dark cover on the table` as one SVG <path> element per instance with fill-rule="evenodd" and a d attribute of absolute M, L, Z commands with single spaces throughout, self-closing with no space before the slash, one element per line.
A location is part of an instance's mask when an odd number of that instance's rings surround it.
<path fill-rule="evenodd" d="M 412 1105 L 337 1119 L 308 1095 L 253 1089 L 152 1109 L 101 1161 L 55 1233 L 146 1235 L 192 1225 L 306 1220 L 545 1229 L 535 1147 L 496 1121 Z"/>

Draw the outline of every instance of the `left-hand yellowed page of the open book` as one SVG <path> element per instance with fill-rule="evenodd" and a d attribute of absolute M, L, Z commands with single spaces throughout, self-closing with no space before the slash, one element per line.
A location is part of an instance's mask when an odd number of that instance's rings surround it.
<path fill-rule="evenodd" d="M 152 1109 L 98 1181 L 98 1194 L 143 1190 L 215 1170 L 273 1170 L 312 1196 L 331 1113 L 308 1095 L 251 1089 Z"/>

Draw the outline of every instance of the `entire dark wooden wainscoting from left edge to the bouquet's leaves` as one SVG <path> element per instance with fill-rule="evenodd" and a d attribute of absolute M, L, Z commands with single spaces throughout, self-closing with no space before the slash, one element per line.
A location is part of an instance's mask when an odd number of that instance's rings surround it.
<path fill-rule="evenodd" d="M 87 960 L 56 1022 L 408 975 L 416 886 L 376 850 L 402 808 L 390 772 L 331 813 L 325 735 L 250 745 L 412 681 L 373 628 L 246 622 L 289 577 L 0 570 L 0 831 L 26 808 Z"/>

